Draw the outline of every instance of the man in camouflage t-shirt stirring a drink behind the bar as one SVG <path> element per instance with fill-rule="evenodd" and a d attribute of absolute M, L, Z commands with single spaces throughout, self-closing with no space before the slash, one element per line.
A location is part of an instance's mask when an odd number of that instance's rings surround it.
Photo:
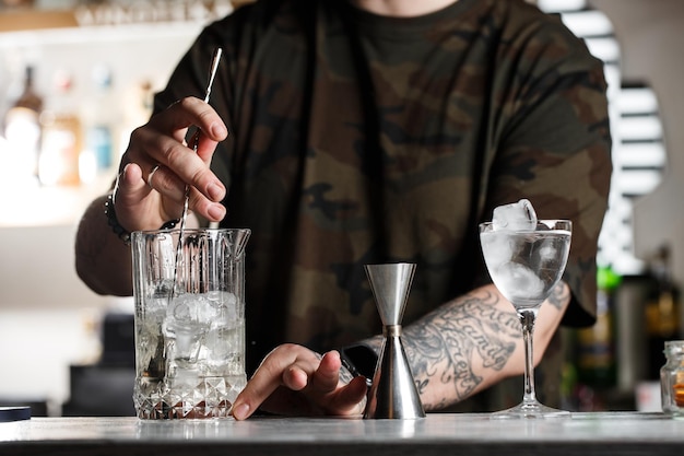
<path fill-rule="evenodd" d="M 210 106 L 199 97 L 216 47 Z M 498 410 L 519 401 L 523 341 L 476 226 L 526 198 L 540 218 L 574 222 L 534 332 L 538 393 L 557 406 L 558 327 L 595 314 L 605 90 L 602 62 L 523 0 L 249 3 L 210 24 L 155 96 L 116 185 L 83 215 L 78 272 L 130 295 L 123 241 L 178 219 L 188 185 L 191 224 L 252 231 L 253 375 L 236 419 L 362 411 L 382 340 L 363 266 L 396 261 L 417 265 L 403 343 L 424 408 Z"/>

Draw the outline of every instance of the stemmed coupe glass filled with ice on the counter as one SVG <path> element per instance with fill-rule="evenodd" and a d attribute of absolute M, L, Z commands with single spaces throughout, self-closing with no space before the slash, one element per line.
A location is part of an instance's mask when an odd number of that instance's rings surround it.
<path fill-rule="evenodd" d="M 526 224 L 527 225 L 527 224 Z M 542 302 L 558 283 L 570 250 L 571 222 L 539 220 L 506 229 L 480 224 L 480 242 L 490 276 L 518 313 L 524 341 L 524 394 L 518 406 L 492 418 L 563 418 L 569 412 L 546 407 L 534 393 L 532 335 Z"/>

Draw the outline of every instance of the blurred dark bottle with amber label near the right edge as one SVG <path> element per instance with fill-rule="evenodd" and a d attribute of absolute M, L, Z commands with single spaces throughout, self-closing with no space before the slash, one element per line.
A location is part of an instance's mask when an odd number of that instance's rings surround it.
<path fill-rule="evenodd" d="M 652 289 L 646 303 L 646 340 L 648 379 L 660 378 L 660 367 L 665 363 L 664 343 L 680 335 L 680 290 L 670 271 L 670 248 L 661 246 L 650 262 Z"/>

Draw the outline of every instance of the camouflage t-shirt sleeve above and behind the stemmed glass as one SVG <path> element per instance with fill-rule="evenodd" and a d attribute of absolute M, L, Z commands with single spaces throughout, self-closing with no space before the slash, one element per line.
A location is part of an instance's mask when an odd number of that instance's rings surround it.
<path fill-rule="evenodd" d="M 612 172 L 603 65 L 559 24 L 520 39 L 516 70 L 500 84 L 505 127 L 487 210 L 527 198 L 540 219 L 573 221 L 564 324 L 587 326 L 595 318 L 598 237 Z"/>

